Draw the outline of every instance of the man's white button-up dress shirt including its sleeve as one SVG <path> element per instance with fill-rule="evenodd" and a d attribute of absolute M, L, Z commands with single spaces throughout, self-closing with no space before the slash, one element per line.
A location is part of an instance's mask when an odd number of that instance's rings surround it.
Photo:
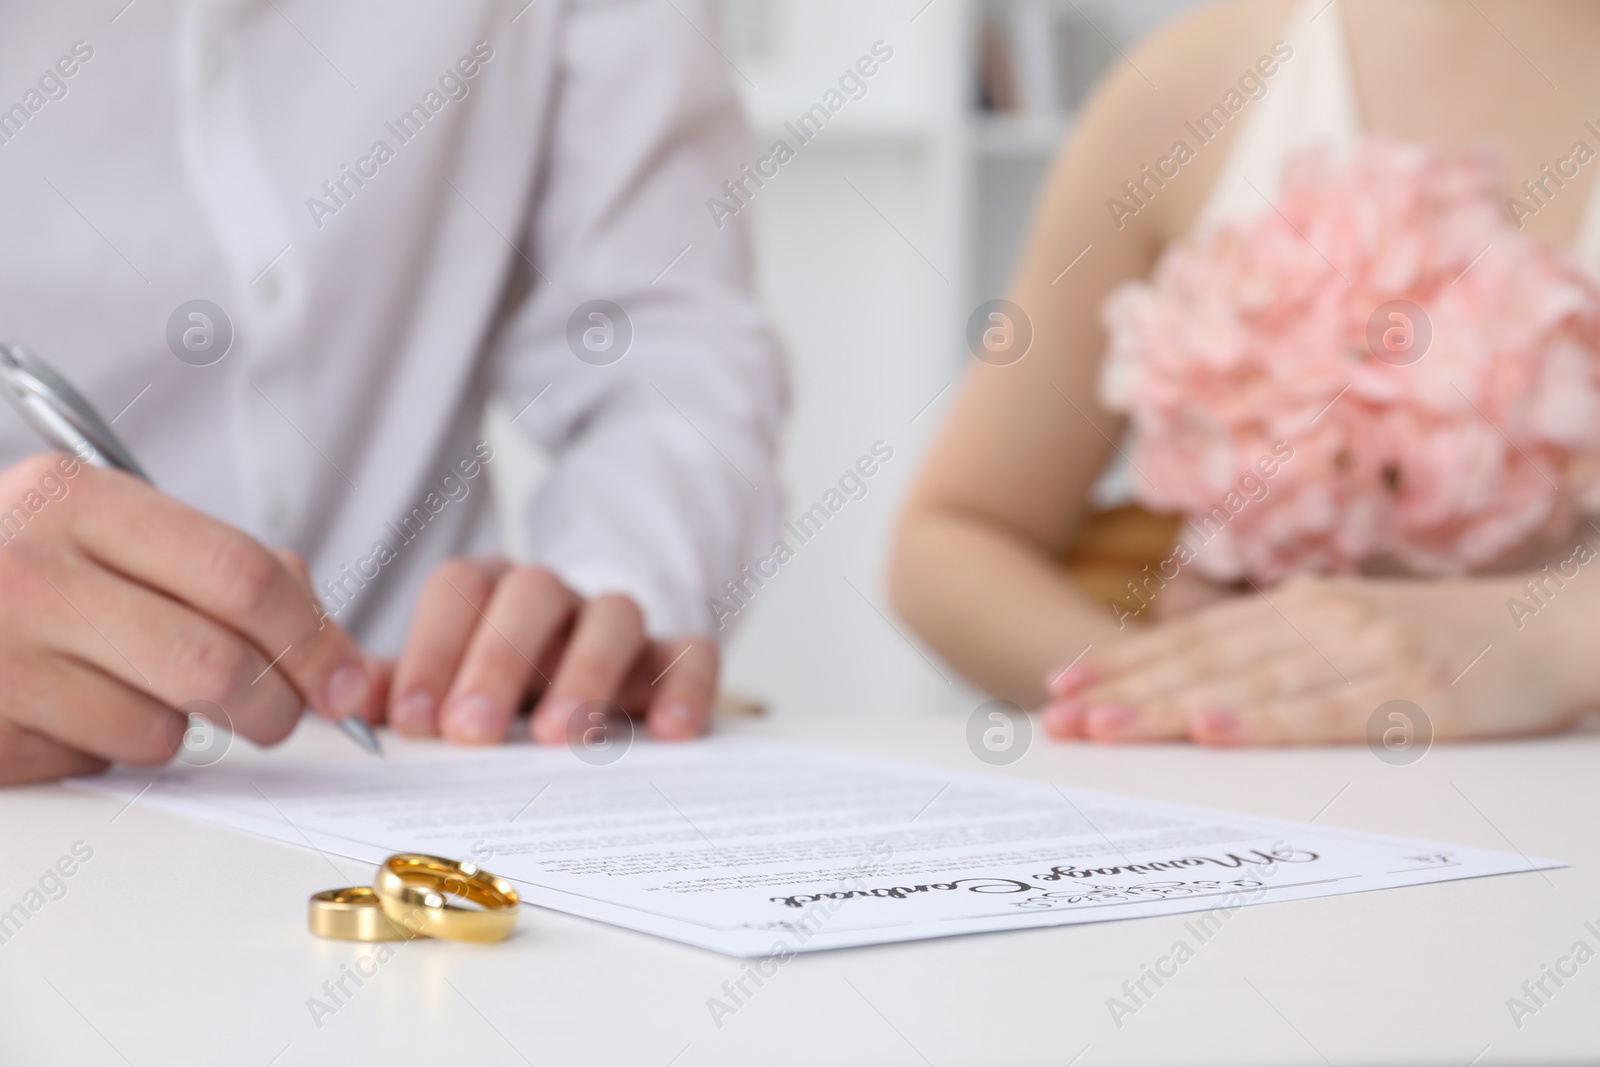
<path fill-rule="evenodd" d="M 378 651 L 494 550 L 490 397 L 552 458 L 534 560 L 712 632 L 776 528 L 786 398 L 706 211 L 749 158 L 707 5 L 123 2 L 0 8 L 0 338 Z M 168 339 L 194 299 L 234 330 L 210 365 L 226 326 Z M 589 301 L 626 322 L 570 330 Z M 0 411 L 0 462 L 38 450 Z"/>

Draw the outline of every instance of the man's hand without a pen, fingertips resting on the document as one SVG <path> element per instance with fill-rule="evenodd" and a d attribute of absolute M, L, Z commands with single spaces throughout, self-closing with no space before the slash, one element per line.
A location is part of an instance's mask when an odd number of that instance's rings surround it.
<path fill-rule="evenodd" d="M 560 742 L 581 707 L 606 701 L 670 741 L 704 733 L 715 693 L 717 646 L 651 640 L 627 597 L 584 600 L 539 566 L 451 560 L 422 589 L 387 707 L 403 734 L 485 744 L 539 696 L 533 737 Z"/>

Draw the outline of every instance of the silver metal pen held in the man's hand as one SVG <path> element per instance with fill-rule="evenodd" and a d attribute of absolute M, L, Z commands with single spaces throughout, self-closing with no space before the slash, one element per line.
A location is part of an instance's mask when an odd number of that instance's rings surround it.
<path fill-rule="evenodd" d="M 19 344 L 0 341 L 0 392 L 5 392 L 22 418 L 56 448 L 96 467 L 126 470 L 141 482 L 150 480 L 83 394 L 38 355 Z M 382 755 L 365 718 L 352 715 L 336 721 L 355 744 Z"/>

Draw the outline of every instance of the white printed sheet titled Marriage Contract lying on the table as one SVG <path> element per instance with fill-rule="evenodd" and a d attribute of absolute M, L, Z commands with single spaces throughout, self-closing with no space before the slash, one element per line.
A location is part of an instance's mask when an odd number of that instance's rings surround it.
<path fill-rule="evenodd" d="M 474 861 L 530 904 L 736 957 L 1562 865 L 749 741 L 640 742 L 608 766 L 526 744 L 358 761 L 242 747 L 75 784 L 373 864 Z"/>

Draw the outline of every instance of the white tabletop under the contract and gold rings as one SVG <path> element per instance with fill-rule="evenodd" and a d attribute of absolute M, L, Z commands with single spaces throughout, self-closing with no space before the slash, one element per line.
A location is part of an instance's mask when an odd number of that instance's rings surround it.
<path fill-rule="evenodd" d="M 726 729 L 986 771 L 965 721 L 789 717 Z M 349 744 L 309 723 L 290 745 Z M 0 912 L 93 856 L 0 944 L 0 1064 L 1478 1064 L 1600 1057 L 1600 957 L 1533 1005 L 1574 944 L 1600 952 L 1600 736 L 1208 752 L 1035 741 L 1010 768 L 1160 800 L 1573 864 L 1251 905 L 1118 1027 L 1107 998 L 1186 917 L 795 957 L 718 1027 L 738 960 L 528 909 L 499 945 L 400 945 L 320 1019 L 307 1000 L 374 945 L 306 933 L 354 861 L 59 785 L 0 790 Z M 72 867 L 72 864 L 69 864 Z M 1586 928 L 1594 923 L 1594 928 Z M 1538 990 L 1534 990 L 1538 992 Z M 318 1025 L 320 1022 L 320 1025 Z M 1477 1059 L 1475 1059 L 1477 1057 Z"/>

